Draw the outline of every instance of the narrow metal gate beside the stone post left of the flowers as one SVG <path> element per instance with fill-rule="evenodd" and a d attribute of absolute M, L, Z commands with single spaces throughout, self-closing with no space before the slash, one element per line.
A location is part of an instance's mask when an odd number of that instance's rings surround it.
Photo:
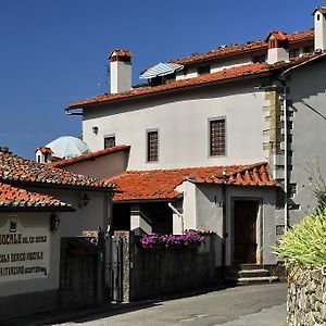
<path fill-rule="evenodd" d="M 110 263 L 111 300 L 123 301 L 123 238 L 112 237 L 112 254 Z"/>

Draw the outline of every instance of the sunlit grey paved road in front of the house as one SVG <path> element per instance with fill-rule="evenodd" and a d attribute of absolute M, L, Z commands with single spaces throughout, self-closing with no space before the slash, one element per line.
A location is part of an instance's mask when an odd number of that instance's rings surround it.
<path fill-rule="evenodd" d="M 224 325 L 284 326 L 286 284 L 236 287 L 168 301 L 147 301 L 127 310 L 42 325 Z M 40 324 L 38 324 L 40 325 Z"/>

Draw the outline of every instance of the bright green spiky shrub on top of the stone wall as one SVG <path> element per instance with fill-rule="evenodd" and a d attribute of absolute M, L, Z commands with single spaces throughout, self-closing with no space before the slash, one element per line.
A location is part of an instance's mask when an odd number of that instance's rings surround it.
<path fill-rule="evenodd" d="M 288 268 L 325 268 L 326 210 L 318 209 L 285 231 L 276 248 Z"/>

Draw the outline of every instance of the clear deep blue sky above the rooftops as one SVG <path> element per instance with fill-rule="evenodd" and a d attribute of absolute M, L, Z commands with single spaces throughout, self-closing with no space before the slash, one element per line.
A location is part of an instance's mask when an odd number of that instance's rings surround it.
<path fill-rule="evenodd" d="M 313 27 L 323 1 L 1 0 L 0 146 L 25 158 L 63 135 L 80 136 L 66 116 L 73 101 L 109 90 L 108 55 L 134 53 L 134 83 L 160 61 L 220 45 L 264 38 L 271 29 Z M 326 4 L 326 1 L 324 2 Z"/>

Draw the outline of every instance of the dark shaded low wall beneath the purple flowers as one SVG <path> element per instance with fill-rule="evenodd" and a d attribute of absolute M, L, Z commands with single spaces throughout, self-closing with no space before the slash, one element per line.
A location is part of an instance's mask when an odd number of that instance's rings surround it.
<path fill-rule="evenodd" d="M 137 240 L 130 275 L 130 299 L 200 289 L 220 283 L 214 235 L 195 248 L 143 249 Z"/>

